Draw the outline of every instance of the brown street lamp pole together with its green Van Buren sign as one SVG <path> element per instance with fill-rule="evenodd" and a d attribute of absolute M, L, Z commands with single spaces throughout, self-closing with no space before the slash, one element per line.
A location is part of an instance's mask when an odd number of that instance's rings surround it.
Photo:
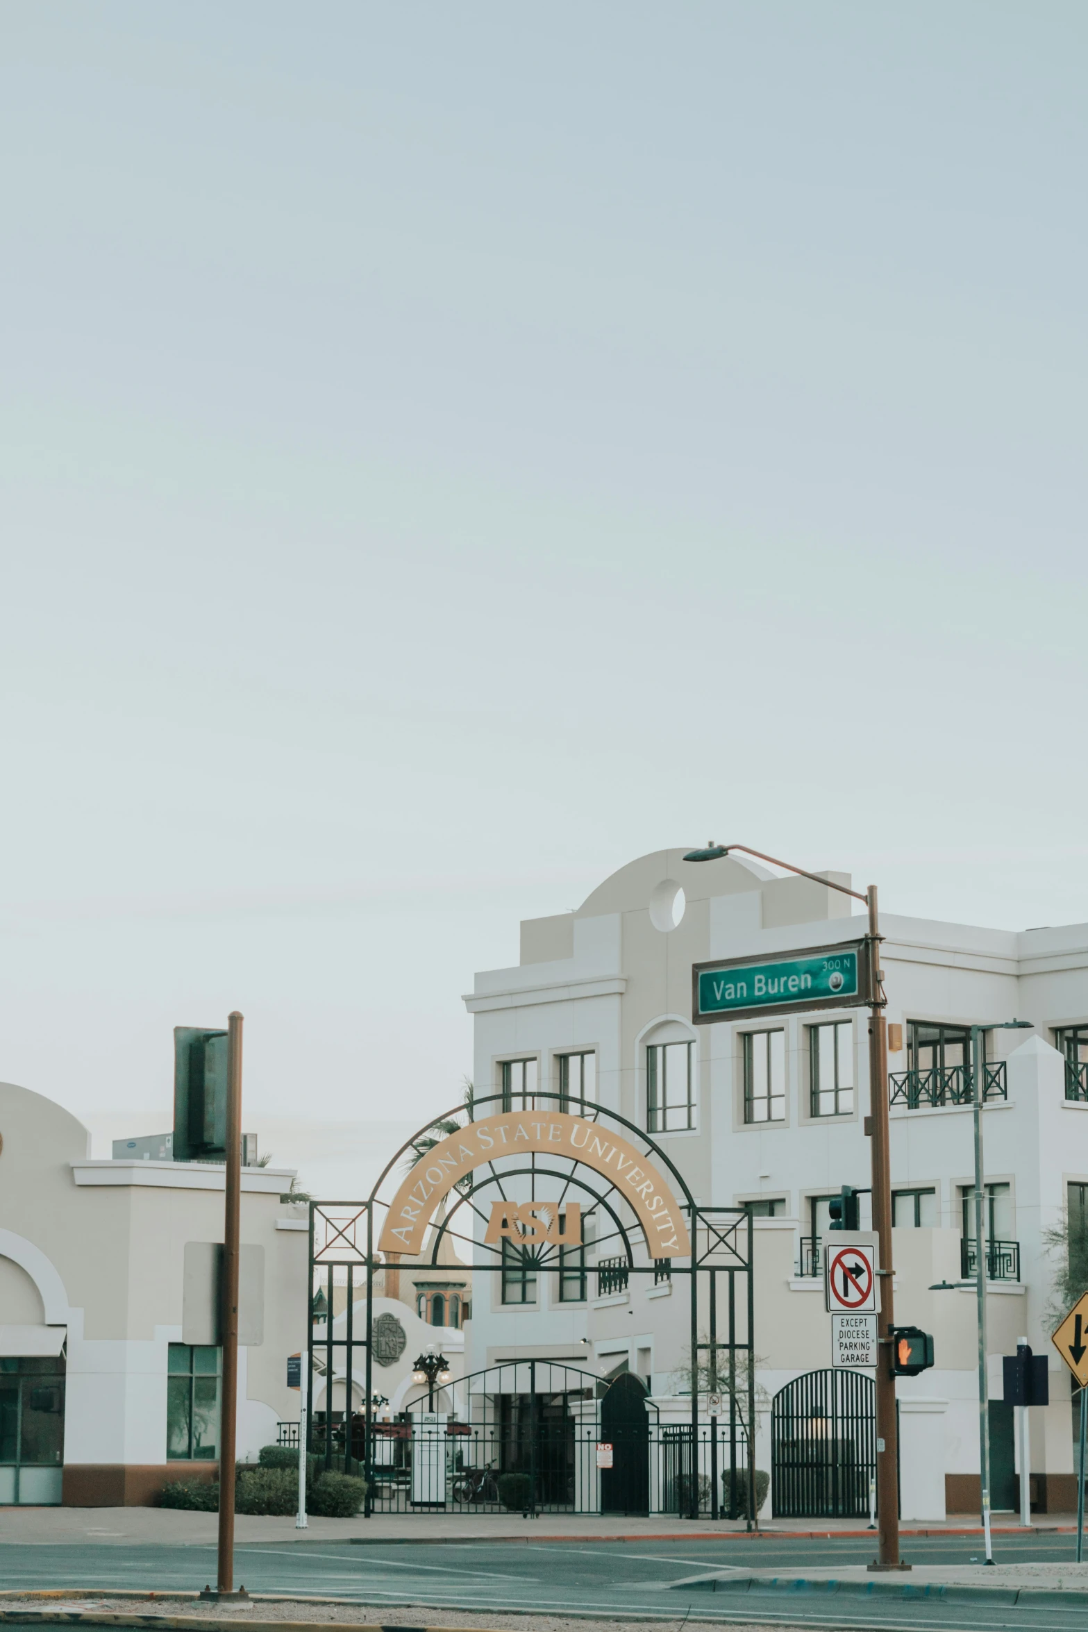
<path fill-rule="evenodd" d="M 798 878 L 811 878 L 824 889 L 837 889 L 843 896 L 861 901 L 868 909 L 868 935 L 861 940 L 843 940 L 832 947 L 809 947 L 788 958 L 726 958 L 718 963 L 698 963 L 692 969 L 693 1004 L 692 1018 L 697 1025 L 713 1025 L 714 1020 L 744 1020 L 776 1012 L 804 1012 L 812 1009 L 869 1009 L 869 1110 L 866 1133 L 873 1154 L 873 1227 L 879 1244 L 879 1265 L 874 1276 L 881 1281 L 881 1309 L 878 1317 L 878 1342 L 884 1361 L 876 1368 L 876 1487 L 879 1510 L 879 1559 L 871 1570 L 909 1570 L 899 1557 L 899 1425 L 896 1420 L 896 1376 L 892 1371 L 892 1328 L 896 1307 L 892 1296 L 892 1173 L 887 1126 L 887 1027 L 884 1022 L 882 969 L 879 968 L 881 932 L 878 920 L 876 885 L 861 894 L 807 873 L 793 862 L 765 855 L 747 844 L 710 844 L 705 850 L 690 850 L 685 862 L 716 862 L 739 850 L 757 862 L 781 867 Z"/>

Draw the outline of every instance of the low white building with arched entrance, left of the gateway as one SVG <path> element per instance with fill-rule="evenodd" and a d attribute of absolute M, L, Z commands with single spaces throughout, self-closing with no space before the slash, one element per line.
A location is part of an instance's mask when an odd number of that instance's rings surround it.
<path fill-rule="evenodd" d="M 60 1105 L 0 1084 L 0 1505 L 140 1505 L 217 1472 L 225 1169 L 88 1151 Z M 299 1415 L 308 1224 L 281 1201 L 292 1177 L 241 1173 L 240 1459 Z"/>

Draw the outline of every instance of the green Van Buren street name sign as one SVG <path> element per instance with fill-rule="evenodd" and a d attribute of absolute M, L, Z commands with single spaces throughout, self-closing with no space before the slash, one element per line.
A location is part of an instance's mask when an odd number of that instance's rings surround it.
<path fill-rule="evenodd" d="M 692 1020 L 747 1020 L 871 1002 L 868 942 L 809 947 L 788 958 L 726 958 L 692 965 Z"/>

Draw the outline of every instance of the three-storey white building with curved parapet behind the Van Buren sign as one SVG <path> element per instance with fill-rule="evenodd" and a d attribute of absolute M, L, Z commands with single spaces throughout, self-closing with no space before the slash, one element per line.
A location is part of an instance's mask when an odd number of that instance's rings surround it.
<path fill-rule="evenodd" d="M 829 1198 L 842 1185 L 869 1185 L 868 1012 L 693 1025 L 692 966 L 853 940 L 866 924 L 850 914 L 850 899 L 822 885 L 775 878 L 732 855 L 695 865 L 682 850 L 662 850 L 620 868 L 576 912 L 522 922 L 520 963 L 478 974 L 465 999 L 478 1095 L 506 1093 L 507 1103 L 529 1106 L 533 1092 L 573 1100 L 584 1092 L 648 1129 L 700 1204 L 752 1208 L 755 1350 L 768 1399 L 830 1364 L 830 1317 L 814 1271 L 829 1244 Z M 972 1263 L 972 1111 L 956 1103 L 966 1028 L 1013 1017 L 1033 1030 L 988 1033 L 984 1113 L 987 1234 L 995 1239 L 987 1297 L 993 1505 L 1018 1500 L 1002 1356 L 1026 1335 L 1036 1353 L 1050 1355 L 1050 1405 L 1029 1413 L 1033 1498 L 1041 1510 L 1068 1510 L 1070 1384 L 1049 1345 L 1044 1234 L 1067 1209 L 1083 1222 L 1088 1208 L 1088 925 L 1006 932 L 884 914 L 881 930 L 896 1319 L 931 1332 L 936 1346 L 931 1371 L 899 1382 L 904 1518 L 979 1505 L 975 1299 L 971 1289 L 930 1288 L 961 1279 Z M 631 1276 L 623 1288 L 608 1279 L 602 1288 L 592 1265 L 590 1247 L 581 1279 L 476 1273 L 467 1368 L 530 1356 L 579 1358 L 600 1376 L 620 1368 L 643 1377 L 659 1410 L 679 1420 L 682 1278 Z M 757 1466 L 765 1469 L 772 1417 L 770 1408 L 760 1415 Z"/>

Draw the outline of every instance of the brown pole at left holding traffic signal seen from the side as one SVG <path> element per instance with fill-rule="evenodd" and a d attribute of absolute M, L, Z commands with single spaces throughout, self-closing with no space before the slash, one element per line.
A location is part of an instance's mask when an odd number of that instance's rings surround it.
<path fill-rule="evenodd" d="M 241 1015 L 227 1020 L 227 1204 L 223 1216 L 223 1275 L 220 1332 L 223 1397 L 219 1428 L 219 1583 L 235 1586 L 235 1457 L 238 1438 L 238 1247 L 241 1235 Z"/>

